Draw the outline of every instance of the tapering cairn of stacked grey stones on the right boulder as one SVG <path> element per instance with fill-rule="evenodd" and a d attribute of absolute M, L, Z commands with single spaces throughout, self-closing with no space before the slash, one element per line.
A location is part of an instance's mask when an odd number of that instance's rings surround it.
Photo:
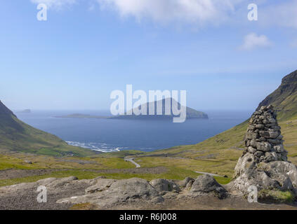
<path fill-rule="evenodd" d="M 273 162 L 287 161 L 281 127 L 277 124 L 277 114 L 273 106 L 262 106 L 251 116 L 249 127 L 244 138 L 246 153 L 254 155 L 254 161 Z"/>

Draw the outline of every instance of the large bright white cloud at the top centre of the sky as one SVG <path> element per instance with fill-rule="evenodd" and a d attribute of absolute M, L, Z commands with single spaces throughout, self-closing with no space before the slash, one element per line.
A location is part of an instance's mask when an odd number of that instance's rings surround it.
<path fill-rule="evenodd" d="M 121 16 L 155 22 L 198 22 L 218 24 L 235 12 L 242 0 L 97 0 L 102 9 L 116 10 Z"/>

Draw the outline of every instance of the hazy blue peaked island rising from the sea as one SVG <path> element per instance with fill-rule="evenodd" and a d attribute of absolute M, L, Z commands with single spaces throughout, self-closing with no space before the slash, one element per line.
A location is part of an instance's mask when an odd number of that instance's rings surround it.
<path fill-rule="evenodd" d="M 178 106 L 178 109 L 181 108 L 181 105 L 179 102 L 176 102 L 175 99 L 173 98 L 167 98 L 170 100 L 170 105 L 171 105 L 171 111 L 170 111 L 170 115 L 166 115 L 165 114 L 165 106 L 166 106 L 166 99 L 161 99 L 159 101 L 154 101 L 154 102 L 148 102 L 146 104 L 143 104 L 143 105 L 140 105 L 138 107 L 138 109 L 140 110 L 141 108 L 143 108 L 143 106 L 146 107 L 147 109 L 147 115 L 139 115 L 139 116 L 136 116 L 133 111 L 128 111 L 126 113 L 126 115 L 123 115 L 123 116 L 115 116 L 115 117 L 112 117 L 110 119 L 150 119 L 150 120 L 154 120 L 154 119 L 168 119 L 168 118 L 173 118 L 173 117 L 176 117 L 173 115 L 173 106 L 174 105 L 177 105 Z M 174 104 L 173 104 L 174 102 Z M 161 115 L 157 115 L 157 105 L 158 104 L 161 104 L 162 105 L 162 111 L 161 111 Z M 154 106 L 154 115 L 150 115 L 149 116 L 149 109 L 150 107 Z M 131 114 L 131 115 L 128 115 L 128 114 Z M 206 113 L 204 112 L 201 112 L 201 111 L 196 111 L 190 107 L 186 107 L 186 116 L 187 116 L 187 119 L 208 119 L 209 116 L 207 116 Z"/>

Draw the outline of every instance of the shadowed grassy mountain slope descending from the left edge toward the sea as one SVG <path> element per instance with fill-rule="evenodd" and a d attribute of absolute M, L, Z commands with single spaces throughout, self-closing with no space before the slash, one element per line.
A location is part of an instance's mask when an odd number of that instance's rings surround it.
<path fill-rule="evenodd" d="M 0 150 L 43 155 L 93 155 L 90 150 L 69 146 L 65 141 L 18 120 L 0 101 Z"/>

